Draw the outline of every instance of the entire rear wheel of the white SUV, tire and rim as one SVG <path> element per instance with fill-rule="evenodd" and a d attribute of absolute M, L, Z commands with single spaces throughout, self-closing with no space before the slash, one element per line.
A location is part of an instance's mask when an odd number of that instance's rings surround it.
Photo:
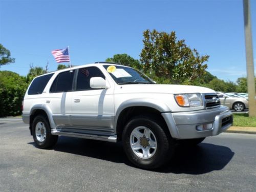
<path fill-rule="evenodd" d="M 51 134 L 48 119 L 42 115 L 38 115 L 34 118 L 32 123 L 32 135 L 35 146 L 38 148 L 50 148 L 58 141 L 58 136 Z"/>

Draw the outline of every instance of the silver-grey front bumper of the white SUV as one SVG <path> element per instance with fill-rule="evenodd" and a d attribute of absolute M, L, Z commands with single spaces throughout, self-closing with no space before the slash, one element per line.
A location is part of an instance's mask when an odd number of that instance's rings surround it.
<path fill-rule="evenodd" d="M 170 134 L 176 139 L 193 139 L 218 135 L 233 123 L 233 115 L 226 106 L 194 112 L 162 113 Z M 206 131 L 197 126 L 212 123 Z"/>

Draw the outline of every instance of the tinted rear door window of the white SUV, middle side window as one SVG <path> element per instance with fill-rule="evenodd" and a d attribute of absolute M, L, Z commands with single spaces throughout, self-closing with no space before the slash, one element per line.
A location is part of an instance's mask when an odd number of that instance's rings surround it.
<path fill-rule="evenodd" d="M 67 92 L 72 90 L 74 70 L 65 71 L 57 75 L 52 83 L 50 93 Z"/>

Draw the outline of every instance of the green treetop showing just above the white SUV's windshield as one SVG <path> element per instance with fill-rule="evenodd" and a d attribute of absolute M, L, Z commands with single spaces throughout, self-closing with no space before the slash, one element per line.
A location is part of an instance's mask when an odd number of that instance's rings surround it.
<path fill-rule="evenodd" d="M 127 54 L 115 54 L 113 57 L 107 58 L 106 61 L 120 63 L 121 65 L 129 66 L 138 70 L 142 69 L 140 61 Z"/>

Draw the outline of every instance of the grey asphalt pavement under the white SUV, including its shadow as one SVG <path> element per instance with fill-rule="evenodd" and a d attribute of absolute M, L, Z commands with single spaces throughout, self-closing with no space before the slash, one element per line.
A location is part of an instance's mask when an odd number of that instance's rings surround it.
<path fill-rule="evenodd" d="M 121 143 L 59 137 L 40 150 L 20 118 L 0 118 L 0 191 L 255 191 L 255 146 L 256 135 L 222 133 L 143 170 Z"/>

